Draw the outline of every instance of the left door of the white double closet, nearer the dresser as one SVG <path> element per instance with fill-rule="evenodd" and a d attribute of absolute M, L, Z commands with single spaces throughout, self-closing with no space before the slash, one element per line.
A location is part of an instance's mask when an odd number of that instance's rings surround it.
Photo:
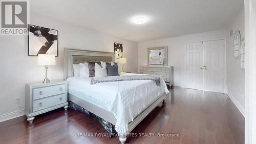
<path fill-rule="evenodd" d="M 203 90 L 203 44 L 186 45 L 186 81 L 187 88 Z"/>

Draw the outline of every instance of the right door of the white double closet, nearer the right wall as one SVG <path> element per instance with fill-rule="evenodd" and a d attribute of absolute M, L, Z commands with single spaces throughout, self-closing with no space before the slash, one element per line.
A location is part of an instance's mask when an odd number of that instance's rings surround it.
<path fill-rule="evenodd" d="M 224 92 L 224 40 L 204 42 L 204 90 Z"/>

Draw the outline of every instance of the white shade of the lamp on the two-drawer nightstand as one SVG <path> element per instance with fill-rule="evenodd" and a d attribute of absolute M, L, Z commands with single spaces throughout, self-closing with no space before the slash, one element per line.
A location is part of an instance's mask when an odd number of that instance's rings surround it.
<path fill-rule="evenodd" d="M 39 66 L 56 65 L 55 55 L 53 55 L 53 54 L 38 54 L 37 65 L 39 65 Z"/>

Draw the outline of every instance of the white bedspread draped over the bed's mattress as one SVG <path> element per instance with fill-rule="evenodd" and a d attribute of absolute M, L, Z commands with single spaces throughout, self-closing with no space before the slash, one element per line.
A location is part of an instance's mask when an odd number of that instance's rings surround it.
<path fill-rule="evenodd" d="M 114 114 L 117 119 L 115 129 L 118 133 L 125 133 L 129 122 L 150 102 L 164 92 L 169 92 L 163 78 L 161 86 L 157 86 L 152 80 L 116 81 L 94 85 L 90 84 L 89 77 L 70 77 L 67 81 L 69 93 Z"/>

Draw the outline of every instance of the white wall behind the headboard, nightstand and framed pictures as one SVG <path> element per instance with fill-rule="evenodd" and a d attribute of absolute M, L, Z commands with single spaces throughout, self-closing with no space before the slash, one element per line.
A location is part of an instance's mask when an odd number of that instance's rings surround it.
<path fill-rule="evenodd" d="M 136 73 L 138 68 L 138 43 L 100 33 L 59 20 L 31 14 L 30 24 L 58 30 L 58 51 L 56 66 L 49 67 L 49 79 L 63 79 L 63 48 L 74 48 L 94 51 L 114 51 L 114 42 L 123 44 L 123 56 L 127 57 L 125 71 Z M 6 118 L 23 115 L 15 104 L 15 97 L 20 97 L 20 107 L 25 107 L 25 84 L 42 80 L 44 67 L 37 66 L 37 57 L 28 56 L 27 36 L 0 36 L 0 121 Z"/>

